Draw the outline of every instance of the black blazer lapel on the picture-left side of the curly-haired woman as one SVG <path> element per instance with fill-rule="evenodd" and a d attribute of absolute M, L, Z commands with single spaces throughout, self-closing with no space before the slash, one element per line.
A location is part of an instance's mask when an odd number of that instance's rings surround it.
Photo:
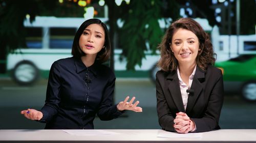
<path fill-rule="evenodd" d="M 181 93 L 180 93 L 180 84 L 177 72 L 169 73 L 167 76 L 168 90 L 170 92 L 170 96 L 172 96 L 175 105 L 177 106 L 179 111 L 185 112 L 185 108 L 183 105 Z"/>

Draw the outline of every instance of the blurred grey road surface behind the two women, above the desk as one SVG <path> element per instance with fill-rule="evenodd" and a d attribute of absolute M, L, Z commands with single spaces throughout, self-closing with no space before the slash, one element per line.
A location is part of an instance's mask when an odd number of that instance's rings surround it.
<path fill-rule="evenodd" d="M 20 110 L 40 109 L 44 105 L 47 80 L 32 87 L 20 87 L 12 80 L 0 79 L 0 129 L 43 129 L 45 124 L 30 121 Z M 127 95 L 136 96 L 142 113 L 126 111 L 118 119 L 95 119 L 95 129 L 160 129 L 156 111 L 155 85 L 149 79 L 119 79 L 116 81 L 115 103 Z M 220 126 L 222 129 L 256 129 L 256 104 L 243 101 L 238 95 L 225 94 Z"/>

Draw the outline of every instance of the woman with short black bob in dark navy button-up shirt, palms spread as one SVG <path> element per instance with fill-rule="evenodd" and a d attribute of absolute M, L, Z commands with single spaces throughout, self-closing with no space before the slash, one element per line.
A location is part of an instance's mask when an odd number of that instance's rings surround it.
<path fill-rule="evenodd" d="M 84 21 L 75 35 L 72 57 L 52 64 L 46 101 L 41 110 L 26 109 L 27 119 L 46 123 L 45 129 L 94 129 L 100 120 L 118 118 L 124 110 L 142 112 L 129 96 L 113 104 L 115 74 L 103 65 L 110 57 L 108 28 L 99 19 Z"/>

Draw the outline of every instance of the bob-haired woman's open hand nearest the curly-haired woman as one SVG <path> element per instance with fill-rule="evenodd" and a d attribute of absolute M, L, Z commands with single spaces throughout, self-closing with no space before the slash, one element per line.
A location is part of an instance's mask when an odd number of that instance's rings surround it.
<path fill-rule="evenodd" d="M 130 102 L 127 102 L 128 99 L 130 97 L 127 96 L 124 101 L 121 101 L 117 104 L 117 109 L 119 111 L 122 111 L 122 110 L 132 110 L 132 111 L 135 111 L 135 112 L 142 112 L 142 108 L 141 107 L 138 107 L 137 105 L 139 104 L 139 101 L 136 101 L 134 104 L 134 100 L 135 100 L 135 97 L 133 97 Z"/>

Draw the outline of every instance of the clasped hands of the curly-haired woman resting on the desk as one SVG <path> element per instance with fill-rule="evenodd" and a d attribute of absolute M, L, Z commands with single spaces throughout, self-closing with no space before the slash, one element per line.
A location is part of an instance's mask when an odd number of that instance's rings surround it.
<path fill-rule="evenodd" d="M 174 128 L 178 133 L 188 133 L 195 129 L 195 123 L 184 112 L 176 113 Z"/>

